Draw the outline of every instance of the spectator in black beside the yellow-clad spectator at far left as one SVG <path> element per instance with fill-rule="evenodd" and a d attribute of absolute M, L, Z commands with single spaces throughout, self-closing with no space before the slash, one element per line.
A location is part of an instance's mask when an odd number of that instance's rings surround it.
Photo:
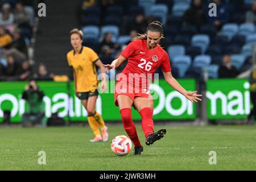
<path fill-rule="evenodd" d="M 25 40 L 20 35 L 19 29 L 17 29 L 13 34 L 13 43 L 11 43 L 11 48 L 16 48 L 18 51 L 22 52 L 24 56 L 28 57 L 27 44 Z"/>

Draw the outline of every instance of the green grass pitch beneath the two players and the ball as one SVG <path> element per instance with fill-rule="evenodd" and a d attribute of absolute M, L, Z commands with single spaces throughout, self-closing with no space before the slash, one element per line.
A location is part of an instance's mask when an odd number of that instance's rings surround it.
<path fill-rule="evenodd" d="M 86 127 L 0 127 L 0 170 L 255 170 L 256 126 L 163 126 L 166 136 L 152 146 L 144 144 L 141 125 L 136 125 L 144 147 L 142 155 L 117 156 L 112 138 L 126 134 L 122 125 L 109 125 L 110 140 L 89 143 Z M 39 151 L 46 165 L 39 165 Z M 210 151 L 217 164 L 210 165 Z"/>

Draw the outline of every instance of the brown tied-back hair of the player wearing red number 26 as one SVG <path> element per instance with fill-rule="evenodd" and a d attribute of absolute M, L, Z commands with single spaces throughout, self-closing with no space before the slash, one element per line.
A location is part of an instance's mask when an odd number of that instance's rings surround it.
<path fill-rule="evenodd" d="M 148 24 L 145 34 L 138 34 L 138 36 L 135 36 L 135 38 L 133 38 L 133 40 L 146 40 L 148 31 L 160 32 L 160 34 L 161 34 L 160 38 L 161 39 L 164 38 L 162 23 L 160 23 L 158 21 L 154 21 L 154 22 Z"/>

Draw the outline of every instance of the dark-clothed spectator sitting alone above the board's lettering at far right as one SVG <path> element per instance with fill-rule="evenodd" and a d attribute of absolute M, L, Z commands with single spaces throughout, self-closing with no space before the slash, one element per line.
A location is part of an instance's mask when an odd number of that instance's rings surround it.
<path fill-rule="evenodd" d="M 230 55 L 224 55 L 222 63 L 223 64 L 218 69 L 219 78 L 234 78 L 239 74 L 238 70 L 231 64 Z"/>

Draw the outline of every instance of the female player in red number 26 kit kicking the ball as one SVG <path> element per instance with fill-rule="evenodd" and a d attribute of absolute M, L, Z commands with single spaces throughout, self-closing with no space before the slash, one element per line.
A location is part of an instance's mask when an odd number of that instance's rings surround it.
<path fill-rule="evenodd" d="M 166 129 L 154 133 L 152 120 L 154 102 L 149 90 L 149 81 L 152 73 L 159 67 L 162 68 L 166 82 L 177 92 L 183 94 L 191 102 L 201 101 L 200 94 L 185 90 L 171 74 L 170 59 L 166 51 L 160 46 L 163 38 L 163 29 L 160 22 L 154 21 L 147 26 L 146 34 L 139 35 L 127 45 L 127 47 L 115 59 L 112 64 L 103 65 L 105 71 L 118 68 L 126 59 L 128 63 L 117 78 L 115 85 L 115 105 L 119 106 L 123 126 L 126 133 L 134 143 L 134 154 L 141 154 L 143 147 L 139 141 L 134 122 L 131 118 L 131 106 L 139 112 L 142 117 L 142 130 L 146 138 L 146 144 L 151 145 L 156 140 L 164 137 Z M 137 82 L 134 79 L 139 79 Z M 146 82 L 143 80 L 146 80 Z"/>

